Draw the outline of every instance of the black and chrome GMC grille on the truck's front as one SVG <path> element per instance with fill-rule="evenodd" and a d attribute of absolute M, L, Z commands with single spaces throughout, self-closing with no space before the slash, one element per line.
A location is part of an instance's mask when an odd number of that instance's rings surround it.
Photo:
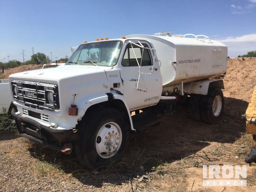
<path fill-rule="evenodd" d="M 59 109 L 58 86 L 30 81 L 12 80 L 12 94 L 14 99 L 23 102 L 26 106 L 40 109 Z M 14 91 L 16 87 L 16 93 Z M 54 104 L 47 98 L 48 92 L 53 93 Z"/>

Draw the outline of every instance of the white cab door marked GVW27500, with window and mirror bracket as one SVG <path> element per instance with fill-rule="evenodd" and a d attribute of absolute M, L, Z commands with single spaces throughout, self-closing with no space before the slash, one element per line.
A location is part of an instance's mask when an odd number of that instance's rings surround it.
<path fill-rule="evenodd" d="M 162 76 L 152 46 L 142 40 L 127 40 L 124 48 L 119 68 L 128 107 L 136 110 L 157 104 L 162 94 Z"/>

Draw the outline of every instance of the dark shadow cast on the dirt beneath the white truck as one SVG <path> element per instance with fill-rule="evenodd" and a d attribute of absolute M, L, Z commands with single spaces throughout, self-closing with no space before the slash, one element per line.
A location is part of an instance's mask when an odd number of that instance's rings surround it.
<path fill-rule="evenodd" d="M 248 102 L 244 100 L 225 98 L 224 117 L 219 124 L 196 122 L 189 117 L 187 109 L 177 111 L 144 132 L 133 133 L 121 161 L 93 171 L 83 169 L 75 154 L 56 154 L 55 150 L 42 150 L 37 144 L 32 144 L 28 150 L 35 158 L 44 155 L 43 159 L 39 159 L 57 164 L 82 184 L 99 188 L 104 183 L 122 185 L 130 178 L 152 172 L 161 164 L 195 154 L 210 142 L 234 143 L 241 133 L 246 132 L 241 115 L 247 106 Z"/>

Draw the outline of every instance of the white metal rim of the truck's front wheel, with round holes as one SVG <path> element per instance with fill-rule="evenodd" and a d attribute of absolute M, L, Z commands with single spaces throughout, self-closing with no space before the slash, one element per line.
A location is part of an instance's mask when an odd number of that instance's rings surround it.
<path fill-rule="evenodd" d="M 96 150 L 102 158 L 114 156 L 122 144 L 122 131 L 115 122 L 104 124 L 98 131 L 96 137 Z"/>

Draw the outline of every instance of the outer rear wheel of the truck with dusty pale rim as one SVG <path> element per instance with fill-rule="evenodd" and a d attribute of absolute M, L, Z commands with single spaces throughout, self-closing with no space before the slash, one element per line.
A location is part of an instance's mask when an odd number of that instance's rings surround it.
<path fill-rule="evenodd" d="M 222 120 L 224 96 L 220 88 L 210 88 L 207 95 L 202 96 L 201 116 L 206 123 L 214 124 Z"/>

